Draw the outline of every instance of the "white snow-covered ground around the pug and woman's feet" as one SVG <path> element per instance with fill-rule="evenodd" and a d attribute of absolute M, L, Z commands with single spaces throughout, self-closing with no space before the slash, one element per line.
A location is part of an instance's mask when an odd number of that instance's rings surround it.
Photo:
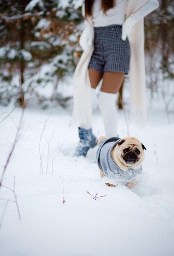
<path fill-rule="evenodd" d="M 10 109 L 1 107 L 0 113 Z M 146 128 L 130 126 L 130 135 L 139 138 L 147 148 L 141 180 L 130 190 L 121 184 L 108 187 L 106 182 L 117 182 L 106 177 L 100 179 L 95 163 L 97 147 L 86 158 L 70 156 L 78 141 L 77 128 L 70 126 L 70 109 L 40 110 L 30 104 L 24 112 L 20 140 L 3 181 L 4 186 L 13 189 L 15 175 L 21 220 L 14 202 L 7 204 L 2 218 L 6 201 L 0 200 L 0 255 L 173 256 L 174 124 L 167 123 L 163 109 L 149 108 Z M 20 115 L 21 110 L 16 109 L 0 124 L 0 175 Z M 93 130 L 98 137 L 104 135 L 97 111 Z M 47 160 L 46 140 L 52 134 Z M 121 111 L 119 136 L 127 136 Z M 39 144 L 44 174 L 42 170 L 40 174 Z M 93 200 L 86 191 L 106 196 Z M 2 187 L 0 198 L 14 200 L 14 195 Z"/>

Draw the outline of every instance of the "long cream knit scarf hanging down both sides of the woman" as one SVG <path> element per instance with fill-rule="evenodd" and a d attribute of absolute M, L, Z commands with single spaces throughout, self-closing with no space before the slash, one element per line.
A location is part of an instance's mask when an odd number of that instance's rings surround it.
<path fill-rule="evenodd" d="M 128 0 L 125 14 L 128 18 L 137 11 L 147 0 Z M 86 20 L 86 26 L 94 32 L 92 17 Z M 83 124 L 86 120 L 92 123 L 91 87 L 88 75 L 88 64 L 94 47 L 85 49 L 73 77 L 73 120 Z M 137 22 L 131 34 L 130 40 L 130 103 L 131 119 L 138 126 L 145 126 L 146 104 L 145 104 L 145 58 L 144 58 L 144 22 Z"/>

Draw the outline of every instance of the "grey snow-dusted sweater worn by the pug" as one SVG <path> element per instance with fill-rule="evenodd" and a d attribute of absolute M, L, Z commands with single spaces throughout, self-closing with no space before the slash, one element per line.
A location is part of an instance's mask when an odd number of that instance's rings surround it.
<path fill-rule="evenodd" d="M 128 168 L 128 171 L 123 171 L 119 168 L 111 157 L 111 151 L 119 140 L 119 137 L 112 137 L 101 142 L 97 150 L 97 164 L 106 177 L 115 178 L 118 181 L 131 182 L 136 180 L 137 175 L 142 172 L 142 166 L 139 169 Z"/>

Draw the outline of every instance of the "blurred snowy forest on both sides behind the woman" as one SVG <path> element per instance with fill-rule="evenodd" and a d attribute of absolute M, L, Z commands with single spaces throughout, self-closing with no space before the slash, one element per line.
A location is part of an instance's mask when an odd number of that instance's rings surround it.
<path fill-rule="evenodd" d="M 1 105 L 12 101 L 24 108 L 35 98 L 42 108 L 50 104 L 66 106 L 72 95 L 62 95 L 59 84 L 73 75 L 82 53 L 82 2 L 0 0 Z M 174 1 L 159 2 L 160 7 L 145 17 L 146 85 L 151 98 L 163 98 L 170 119 L 174 98 Z M 123 107 L 122 94 L 123 86 L 119 108 Z"/>

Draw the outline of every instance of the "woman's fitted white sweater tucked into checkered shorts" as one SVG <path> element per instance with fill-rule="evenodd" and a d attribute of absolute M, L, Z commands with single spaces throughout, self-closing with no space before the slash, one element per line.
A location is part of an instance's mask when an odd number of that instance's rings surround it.
<path fill-rule="evenodd" d="M 101 9 L 101 1 L 95 0 L 93 5 L 93 24 L 94 27 L 103 27 L 113 24 L 122 25 L 125 20 L 125 6 L 127 0 L 115 0 L 115 7 L 109 9 L 106 14 Z M 135 11 L 131 16 L 139 21 L 146 15 L 159 7 L 157 0 L 148 0 L 142 7 Z"/>

